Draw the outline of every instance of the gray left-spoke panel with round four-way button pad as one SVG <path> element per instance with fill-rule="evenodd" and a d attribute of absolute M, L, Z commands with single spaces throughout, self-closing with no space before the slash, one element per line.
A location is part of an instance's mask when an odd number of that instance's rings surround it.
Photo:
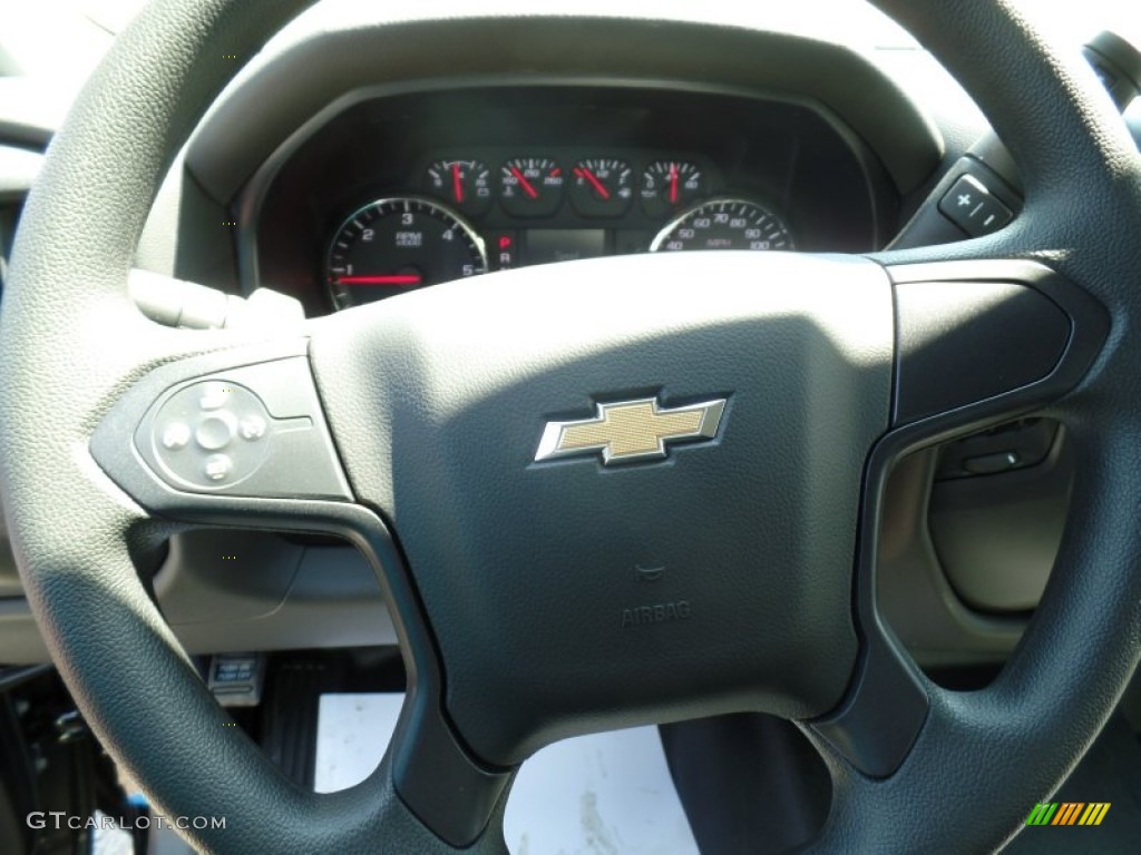
<path fill-rule="evenodd" d="M 135 448 L 167 486 L 266 498 L 349 498 L 304 357 L 176 378 L 156 391 L 135 430 Z"/>

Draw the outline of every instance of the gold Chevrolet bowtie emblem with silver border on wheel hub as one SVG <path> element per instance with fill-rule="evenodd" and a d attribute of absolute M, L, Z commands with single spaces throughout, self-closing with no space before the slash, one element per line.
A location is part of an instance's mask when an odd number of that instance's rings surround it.
<path fill-rule="evenodd" d="M 605 464 L 662 458 L 671 443 L 713 439 L 723 413 L 723 398 L 672 409 L 654 398 L 599 404 L 593 418 L 548 422 L 535 459 L 594 451 Z"/>

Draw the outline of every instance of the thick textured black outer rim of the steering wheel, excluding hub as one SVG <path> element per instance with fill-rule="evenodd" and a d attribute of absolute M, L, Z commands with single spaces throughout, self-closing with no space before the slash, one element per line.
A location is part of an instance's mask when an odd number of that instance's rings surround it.
<path fill-rule="evenodd" d="M 260 348 L 262 359 L 304 359 L 299 353 L 306 351 L 296 344 L 304 331 L 290 331 L 292 339 L 282 345 L 252 333 L 155 327 L 133 310 L 126 280 L 167 166 L 233 72 L 217 58 L 251 55 L 305 6 L 199 0 L 151 7 L 113 48 L 54 140 L 25 207 L 0 318 L 2 370 L 9 380 L 0 390 L 0 424 L 8 437 L 0 451 L 6 513 L 30 603 L 60 673 L 104 744 L 168 815 L 229 819 L 224 830 L 185 830 L 196 845 L 226 852 L 448 852 L 454 847 L 428 825 L 440 832 L 432 811 L 446 820 L 446 799 L 463 787 L 445 792 L 445 804 L 434 808 L 423 801 L 430 797 L 416 792 L 430 782 L 416 783 L 410 766 L 432 758 L 446 766 L 455 763 L 451 755 L 470 762 L 454 733 L 428 743 L 413 734 L 410 744 L 430 750 L 397 751 L 363 784 L 317 796 L 286 782 L 248 739 L 224 728 L 224 712 L 133 570 L 132 560 L 144 559 L 172 523 L 140 506 L 154 510 L 154 503 L 140 499 L 154 486 L 120 475 L 97 448 L 100 435 L 121 434 L 124 424 L 128 433 L 133 431 L 133 423 L 114 421 L 132 396 L 144 401 L 145 410 L 155 389 L 161 392 L 178 377 L 208 375 L 216 369 L 211 366 L 226 365 L 227 355 Z M 856 669 L 835 710 L 815 710 L 830 714 L 831 722 L 803 717 L 834 782 L 833 809 L 816 849 L 987 850 L 1013 836 L 1034 801 L 1073 768 L 1138 661 L 1141 578 L 1133 569 L 1141 539 L 1132 511 L 1141 449 L 1132 441 L 1128 393 L 1141 342 L 1128 333 L 1141 309 L 1135 239 L 1141 170 L 1092 74 L 1076 60 L 1060 58 L 1008 3 L 881 0 L 879 6 L 911 28 L 977 98 L 1021 165 L 1027 204 L 1015 223 L 995 236 L 884 253 L 875 261 L 890 270 L 897 288 L 908 278 L 971 278 L 966 268 L 922 268 L 924 262 L 1017 259 L 1022 272 L 1006 267 L 1000 278 L 1022 283 L 1050 277 L 1031 263 L 1042 262 L 1102 307 L 1081 308 L 1081 298 L 1065 283 L 1055 291 L 1042 286 L 1042 293 L 1071 309 L 1071 319 L 1092 331 L 1097 347 L 1083 345 L 1082 359 L 1052 375 L 1061 384 L 1039 390 L 1049 392 L 1049 400 L 1039 394 L 980 402 L 978 410 L 989 406 L 994 417 L 1049 404 L 1082 449 L 1078 511 L 1059 557 L 1061 572 L 1054 572 L 1006 669 L 981 692 L 940 690 L 901 657 L 890 632 L 877 625 L 874 604 L 861 602 L 856 625 L 864 640 L 864 670 Z M 140 62 L 147 63 L 146 74 L 138 73 Z M 1020 81 L 1018 90 L 1005 85 L 1011 80 Z M 91 205 L 106 215 L 91 220 L 86 215 Z M 76 222 L 84 227 L 75 228 Z M 994 278 L 995 268 L 987 270 L 984 278 Z M 1099 312 L 1104 316 L 1100 321 Z M 114 331 L 113 340 L 108 331 Z M 318 386 L 324 358 L 318 353 L 315 363 Z M 180 367 L 188 363 L 196 367 Z M 335 397 L 327 381 L 321 391 Z M 334 410 L 337 406 L 348 405 L 334 404 Z M 44 413 L 50 414 L 47 420 Z M 897 427 L 885 439 L 895 437 L 903 448 L 936 433 L 916 425 L 909 430 L 899 439 Z M 343 435 L 338 442 L 351 445 Z M 357 484 L 362 479 L 353 480 Z M 865 514 L 869 507 L 874 513 L 874 481 L 868 478 Z M 284 499 L 278 504 L 281 520 L 296 520 Z M 226 519 L 224 502 L 215 506 L 219 510 L 205 512 L 183 499 L 162 511 L 196 521 L 210 513 Z M 317 502 L 298 506 L 301 513 L 327 513 Z M 60 508 L 68 508 L 62 518 Z M 398 617 L 420 614 L 414 581 L 391 570 L 400 565 L 402 554 L 386 527 L 363 508 L 342 511 L 341 530 L 387 568 L 381 578 Z M 874 554 L 871 540 L 865 538 L 861 549 Z M 871 588 L 867 577 L 866 568 L 857 573 L 860 589 Z M 92 613 L 100 619 L 91 620 Z M 419 621 L 400 622 L 402 640 L 419 651 L 410 667 L 436 692 L 416 693 L 413 706 L 438 705 L 436 641 Z M 875 644 L 884 645 L 899 663 L 898 673 L 924 699 L 914 740 L 884 774 L 861 768 L 839 731 L 828 728 L 858 707 L 860 679 L 872 673 L 867 651 Z M 1073 702 L 1071 695 L 1082 702 Z M 1059 703 L 1059 698 L 1069 702 Z M 439 726 L 442 720 L 406 709 L 402 728 L 422 728 L 426 722 Z M 164 773 L 170 767 L 186 774 L 171 780 Z M 480 803 L 476 813 L 483 822 L 475 838 L 460 839 L 461 829 L 456 846 L 474 840 L 471 850 L 501 852 L 496 830 L 510 768 L 479 762 L 464 768 L 470 777 L 463 785 L 476 793 L 469 796 Z M 958 811 L 940 809 L 947 801 Z M 958 821 L 964 814 L 973 817 L 970 825 Z"/>

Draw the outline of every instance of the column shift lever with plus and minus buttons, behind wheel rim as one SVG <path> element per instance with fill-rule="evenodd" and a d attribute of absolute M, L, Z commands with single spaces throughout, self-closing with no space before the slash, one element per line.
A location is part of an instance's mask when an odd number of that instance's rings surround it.
<path fill-rule="evenodd" d="M 1082 52 L 1124 113 L 1141 95 L 1141 51 L 1107 30 L 1085 44 Z M 1018 166 L 998 137 L 988 132 L 939 181 L 929 201 L 889 249 L 932 246 L 989 235 L 1006 226 L 1021 209 L 1022 180 Z"/>

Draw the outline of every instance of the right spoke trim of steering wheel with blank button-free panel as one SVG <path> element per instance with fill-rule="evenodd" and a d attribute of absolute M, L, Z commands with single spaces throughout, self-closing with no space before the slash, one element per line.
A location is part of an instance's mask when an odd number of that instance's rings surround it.
<path fill-rule="evenodd" d="M 1087 292 L 1030 261 L 957 260 L 888 268 L 896 303 L 892 430 L 868 458 L 856 569 L 861 654 L 848 697 L 807 725 L 871 779 L 905 763 L 931 715 L 926 681 L 876 608 L 881 505 L 914 450 L 1041 412 L 1101 351 L 1108 316 Z"/>

